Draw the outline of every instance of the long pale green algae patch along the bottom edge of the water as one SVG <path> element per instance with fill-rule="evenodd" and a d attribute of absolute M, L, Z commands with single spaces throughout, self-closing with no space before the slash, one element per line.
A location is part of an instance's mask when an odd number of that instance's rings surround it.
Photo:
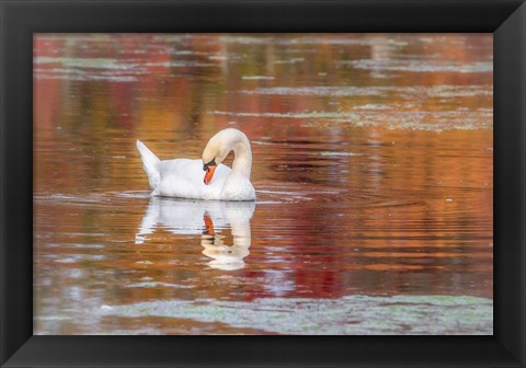
<path fill-rule="evenodd" d="M 114 306 L 99 313 L 224 323 L 278 334 L 493 334 L 493 301 L 467 296 L 262 298 L 252 302 L 157 300 Z"/>

